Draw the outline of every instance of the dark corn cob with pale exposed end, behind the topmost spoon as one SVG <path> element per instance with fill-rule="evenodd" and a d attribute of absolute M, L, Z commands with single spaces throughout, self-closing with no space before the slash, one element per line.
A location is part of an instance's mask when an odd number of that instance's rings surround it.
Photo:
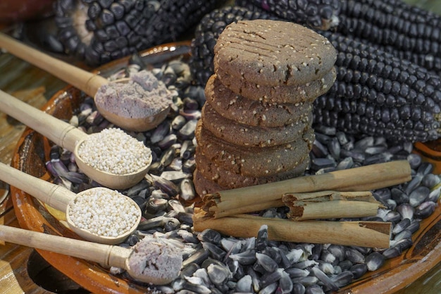
<path fill-rule="evenodd" d="M 172 42 L 224 0 L 57 0 L 57 39 L 91 66 Z"/>

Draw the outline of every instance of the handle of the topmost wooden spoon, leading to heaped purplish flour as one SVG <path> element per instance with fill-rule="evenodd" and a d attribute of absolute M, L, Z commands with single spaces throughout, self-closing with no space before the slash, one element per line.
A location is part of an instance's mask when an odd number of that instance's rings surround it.
<path fill-rule="evenodd" d="M 0 47 L 8 50 L 11 54 L 23 59 L 33 65 L 42 68 L 42 70 L 55 75 L 57 78 L 68 82 L 77 89 L 94 97 L 101 85 L 106 84 L 106 78 L 89 73 L 88 71 L 72 66 L 69 63 L 60 61 L 26 46 L 17 40 L 0 33 Z"/>

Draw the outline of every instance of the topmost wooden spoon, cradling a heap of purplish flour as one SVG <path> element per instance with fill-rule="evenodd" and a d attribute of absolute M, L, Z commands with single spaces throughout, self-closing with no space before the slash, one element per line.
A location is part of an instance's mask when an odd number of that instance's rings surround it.
<path fill-rule="evenodd" d="M 100 87 L 108 84 L 108 80 L 101 77 L 101 75 L 90 73 L 89 71 L 85 71 L 76 66 L 72 66 L 69 63 L 55 59 L 54 57 L 46 55 L 32 47 L 28 47 L 3 33 L 0 33 L 0 47 L 3 47 L 20 59 L 32 63 L 57 78 L 68 82 L 70 85 L 82 90 L 91 97 L 95 97 L 95 94 L 97 94 Z M 97 100 L 95 104 L 99 113 L 108 121 L 114 125 L 118 125 L 120 128 L 124 128 L 125 130 L 134 130 L 137 132 L 156 128 L 156 126 L 166 118 L 170 111 L 170 106 L 168 106 L 154 115 L 136 118 L 120 116 L 119 114 L 116 114 L 113 109 L 107 109 L 104 103 L 101 105 Z M 130 105 L 128 107 L 130 107 Z"/>

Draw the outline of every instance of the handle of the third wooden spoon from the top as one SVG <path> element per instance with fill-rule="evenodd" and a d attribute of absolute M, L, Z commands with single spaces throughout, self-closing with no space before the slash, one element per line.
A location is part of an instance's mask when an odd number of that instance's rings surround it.
<path fill-rule="evenodd" d="M 31 176 L 12 166 L 0 162 L 0 180 L 27 192 L 38 200 L 66 212 L 70 200 L 77 196 L 74 192 L 53 183 Z"/>

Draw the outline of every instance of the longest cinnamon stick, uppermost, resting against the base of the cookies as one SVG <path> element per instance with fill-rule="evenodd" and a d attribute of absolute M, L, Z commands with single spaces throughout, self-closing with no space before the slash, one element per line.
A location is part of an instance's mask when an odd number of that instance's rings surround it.
<path fill-rule="evenodd" d="M 409 162 L 390 161 L 204 195 L 202 209 L 207 217 L 220 218 L 237 214 L 239 207 L 240 213 L 245 213 L 283 206 L 282 195 L 286 193 L 322 190 L 366 191 L 398 185 L 408 180 L 411 180 Z"/>

